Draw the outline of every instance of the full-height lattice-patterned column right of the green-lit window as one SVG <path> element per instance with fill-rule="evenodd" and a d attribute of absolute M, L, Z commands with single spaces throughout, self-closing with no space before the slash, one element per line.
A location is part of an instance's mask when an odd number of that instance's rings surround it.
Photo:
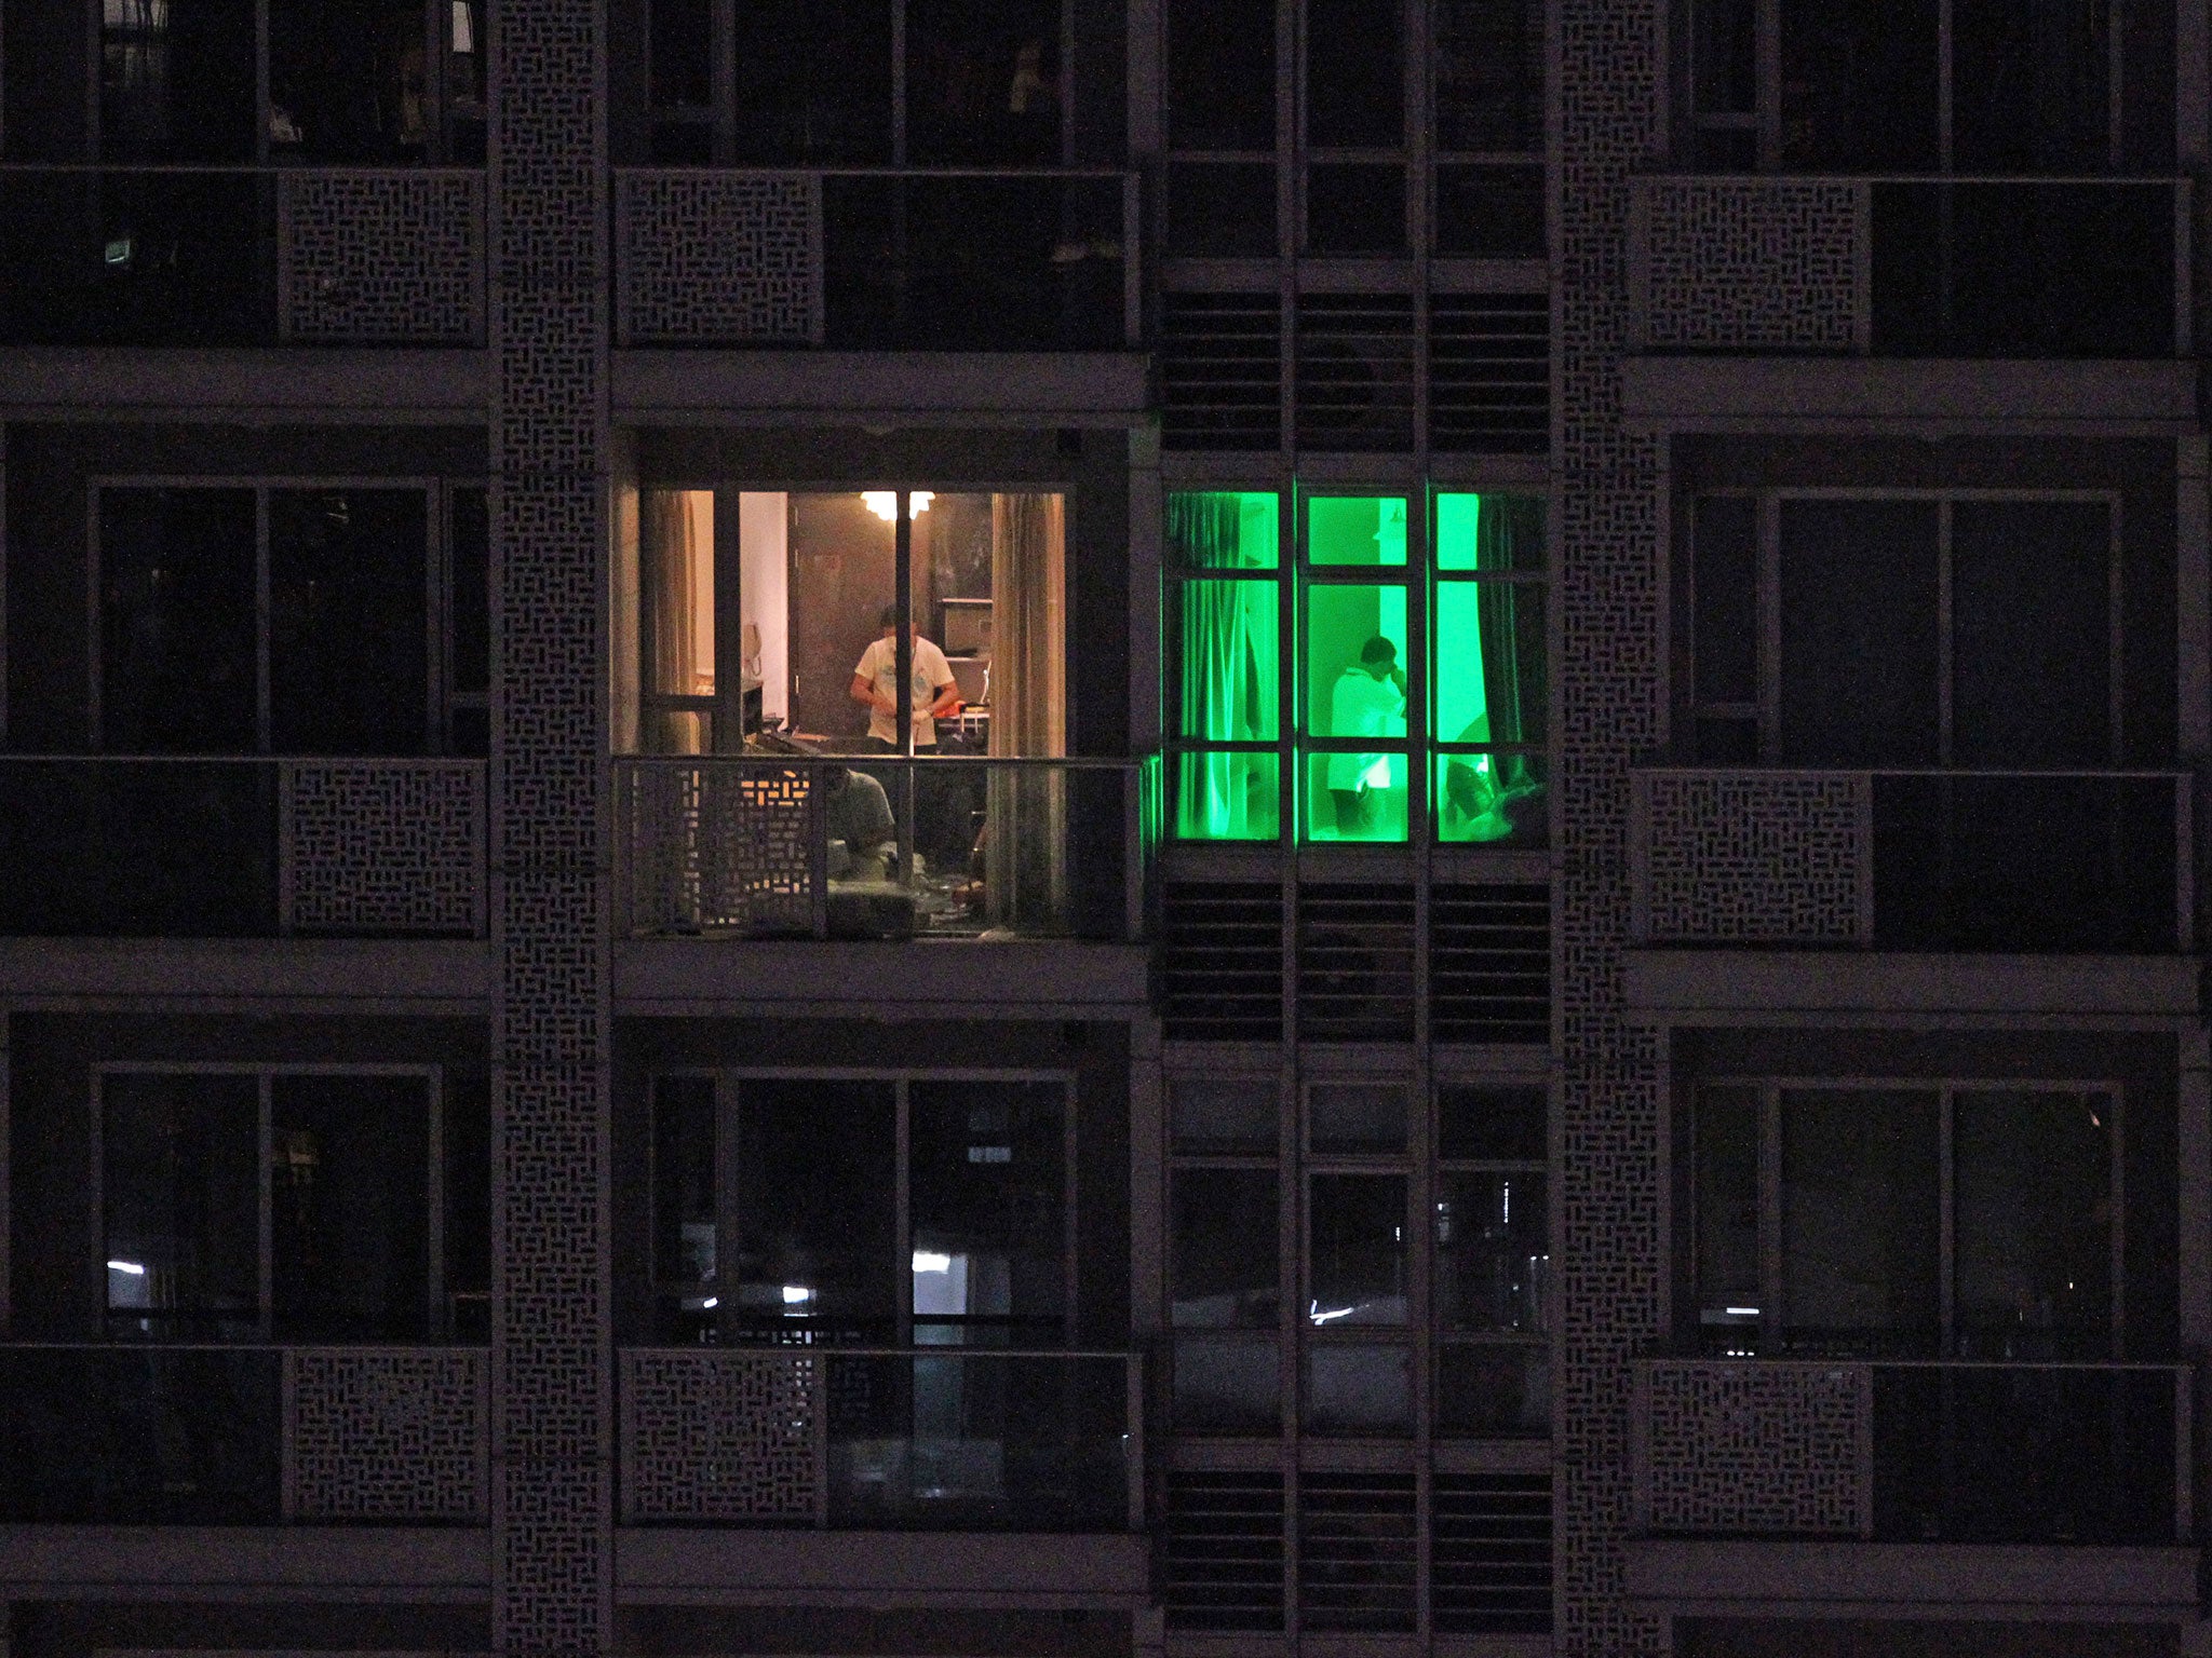
<path fill-rule="evenodd" d="M 1553 11 L 1553 327 L 1559 475 L 1559 1658 L 1666 1651 L 1621 1601 L 1630 1360 L 1659 1326 L 1663 1101 L 1657 1035 L 1626 1024 L 1628 765 L 1661 734 L 1661 455 L 1621 427 L 1628 177 L 1666 119 L 1661 0 Z"/>

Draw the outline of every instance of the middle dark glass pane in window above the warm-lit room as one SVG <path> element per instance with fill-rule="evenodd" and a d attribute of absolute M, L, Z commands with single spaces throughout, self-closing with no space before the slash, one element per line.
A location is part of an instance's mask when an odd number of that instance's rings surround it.
<path fill-rule="evenodd" d="M 737 159 L 891 161 L 891 7 L 737 0 Z"/>

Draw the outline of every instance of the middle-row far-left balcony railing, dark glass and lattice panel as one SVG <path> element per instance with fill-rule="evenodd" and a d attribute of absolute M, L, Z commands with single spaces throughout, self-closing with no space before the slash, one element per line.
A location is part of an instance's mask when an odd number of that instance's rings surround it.
<path fill-rule="evenodd" d="M 0 935 L 482 937 L 484 763 L 0 756 Z"/>

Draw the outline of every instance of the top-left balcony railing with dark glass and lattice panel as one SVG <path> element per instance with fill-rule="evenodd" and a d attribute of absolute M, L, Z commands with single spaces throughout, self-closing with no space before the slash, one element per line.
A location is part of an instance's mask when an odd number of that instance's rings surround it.
<path fill-rule="evenodd" d="M 0 345 L 480 345 L 476 168 L 0 168 Z"/>

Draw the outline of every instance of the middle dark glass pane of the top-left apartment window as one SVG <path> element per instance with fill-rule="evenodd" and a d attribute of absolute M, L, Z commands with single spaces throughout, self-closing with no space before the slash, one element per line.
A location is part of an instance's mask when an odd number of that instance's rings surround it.
<path fill-rule="evenodd" d="M 270 0 L 270 157 L 429 159 L 422 0 Z"/>

